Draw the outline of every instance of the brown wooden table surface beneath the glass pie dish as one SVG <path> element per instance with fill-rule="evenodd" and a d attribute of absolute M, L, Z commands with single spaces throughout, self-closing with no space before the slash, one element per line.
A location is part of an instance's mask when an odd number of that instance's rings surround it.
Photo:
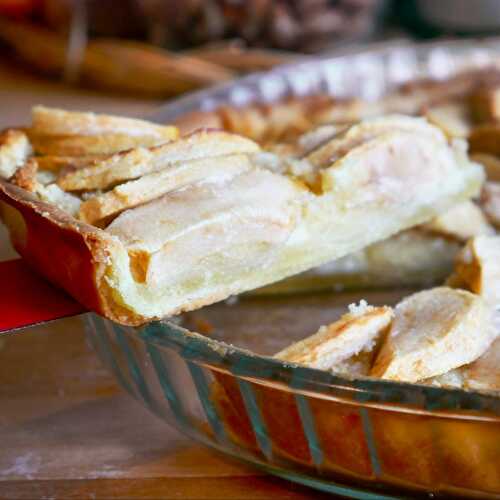
<path fill-rule="evenodd" d="M 37 103 L 131 116 L 158 104 L 78 92 L 0 62 L 0 127 L 26 123 Z M 0 260 L 13 256 L 2 228 Z M 77 318 L 0 337 L 0 499 L 323 497 L 149 414 L 101 366 Z"/>

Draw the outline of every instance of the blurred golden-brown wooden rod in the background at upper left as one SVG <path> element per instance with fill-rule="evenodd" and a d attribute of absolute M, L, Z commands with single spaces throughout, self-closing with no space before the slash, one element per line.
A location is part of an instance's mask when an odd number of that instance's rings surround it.
<path fill-rule="evenodd" d="M 0 18 L 0 39 L 34 68 L 62 75 L 66 38 L 43 27 Z M 167 97 L 229 80 L 233 71 L 140 42 L 94 39 L 82 51 L 79 79 L 98 88 Z"/>

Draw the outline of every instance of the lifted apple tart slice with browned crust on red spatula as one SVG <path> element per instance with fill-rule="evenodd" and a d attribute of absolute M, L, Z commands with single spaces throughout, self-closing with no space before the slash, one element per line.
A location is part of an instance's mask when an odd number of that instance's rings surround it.
<path fill-rule="evenodd" d="M 111 120 L 96 115 L 48 114 L 53 135 L 60 119 L 76 120 L 66 126 L 75 140 L 82 132 L 114 133 Z M 112 122 L 119 134 L 129 127 L 131 137 L 155 136 L 161 127 Z M 48 123 L 42 120 L 45 135 Z M 256 143 L 231 133 L 176 138 L 163 128 L 155 140 L 164 142 L 92 149 L 88 163 L 50 175 L 35 142 L 33 187 L 15 186 L 17 172 L 0 184 L 18 251 L 87 307 L 125 324 L 195 309 L 359 251 L 476 196 L 483 181 L 463 145 L 420 118 L 389 116 L 340 130 L 300 165 L 263 162 Z M 48 156 L 69 153 L 56 148 Z"/>

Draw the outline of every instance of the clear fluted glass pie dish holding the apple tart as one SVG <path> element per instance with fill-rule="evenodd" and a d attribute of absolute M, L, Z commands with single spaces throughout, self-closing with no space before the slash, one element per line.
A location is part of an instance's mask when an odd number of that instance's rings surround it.
<path fill-rule="evenodd" d="M 408 81 L 446 79 L 499 61 L 495 40 L 383 45 L 253 75 L 180 99 L 155 118 L 170 122 L 289 95 L 377 99 Z M 267 357 L 336 319 L 341 306 L 359 298 L 390 305 L 407 294 L 244 297 L 141 328 L 89 314 L 88 335 L 149 410 L 272 474 L 352 498 L 498 498 L 498 396 L 352 379 Z"/>

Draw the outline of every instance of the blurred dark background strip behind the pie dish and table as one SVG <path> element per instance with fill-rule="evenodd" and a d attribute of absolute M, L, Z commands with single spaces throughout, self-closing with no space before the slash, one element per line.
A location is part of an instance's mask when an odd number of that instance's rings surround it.
<path fill-rule="evenodd" d="M 0 0 L 0 71 L 158 100 L 352 45 L 499 32 L 497 0 Z"/>

